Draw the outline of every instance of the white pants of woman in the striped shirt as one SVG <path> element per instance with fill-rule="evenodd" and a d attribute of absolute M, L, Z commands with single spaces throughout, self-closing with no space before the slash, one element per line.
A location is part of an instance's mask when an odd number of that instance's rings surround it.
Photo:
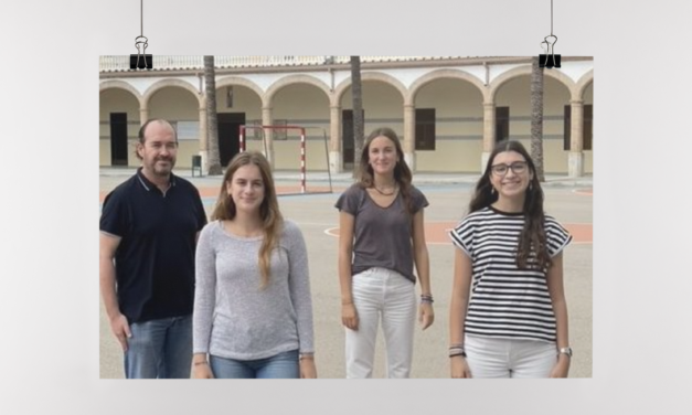
<path fill-rule="evenodd" d="M 557 362 L 555 343 L 465 336 L 471 377 L 549 377 Z"/>

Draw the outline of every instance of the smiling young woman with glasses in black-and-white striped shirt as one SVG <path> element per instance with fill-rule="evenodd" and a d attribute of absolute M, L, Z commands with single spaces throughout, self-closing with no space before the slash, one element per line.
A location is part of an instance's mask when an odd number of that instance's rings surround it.
<path fill-rule="evenodd" d="M 563 249 L 569 233 L 543 212 L 543 190 L 519 141 L 499 142 L 469 214 L 449 236 L 451 377 L 566 377 Z"/>

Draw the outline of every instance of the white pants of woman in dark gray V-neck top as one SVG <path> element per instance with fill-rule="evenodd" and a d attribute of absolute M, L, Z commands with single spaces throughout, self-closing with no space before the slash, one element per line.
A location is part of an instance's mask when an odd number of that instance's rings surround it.
<path fill-rule="evenodd" d="M 408 377 L 416 320 L 414 283 L 385 268 L 371 268 L 352 279 L 358 330 L 345 329 L 347 379 L 372 377 L 377 327 L 386 344 L 386 376 Z"/>

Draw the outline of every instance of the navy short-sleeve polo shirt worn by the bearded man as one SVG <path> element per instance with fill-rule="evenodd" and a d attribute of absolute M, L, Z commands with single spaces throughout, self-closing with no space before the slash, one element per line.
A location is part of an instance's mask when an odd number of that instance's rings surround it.
<path fill-rule="evenodd" d="M 129 322 L 192 313 L 195 236 L 205 224 L 200 192 L 173 174 L 164 194 L 140 168 L 106 196 L 100 231 L 121 237 L 116 291 Z"/>

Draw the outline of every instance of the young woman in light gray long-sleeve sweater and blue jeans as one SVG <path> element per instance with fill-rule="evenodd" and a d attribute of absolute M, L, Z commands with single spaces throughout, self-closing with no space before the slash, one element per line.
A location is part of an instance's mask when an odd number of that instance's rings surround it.
<path fill-rule="evenodd" d="M 305 240 L 259 152 L 231 161 L 200 234 L 193 352 L 194 377 L 317 376 Z"/>

